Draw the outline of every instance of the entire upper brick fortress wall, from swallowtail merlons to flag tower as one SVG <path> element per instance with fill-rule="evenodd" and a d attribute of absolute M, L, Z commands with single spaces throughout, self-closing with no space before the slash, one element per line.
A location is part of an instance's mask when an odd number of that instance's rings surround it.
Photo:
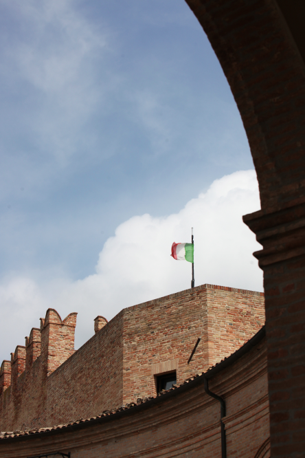
<path fill-rule="evenodd" d="M 16 347 L 10 368 L 3 362 L 0 430 L 61 424 L 155 395 L 156 375 L 174 370 L 183 382 L 263 324 L 262 293 L 201 285 L 127 307 L 109 323 L 97 316 L 95 334 L 74 351 L 76 313 L 61 320 L 48 309 L 41 329 Z"/>

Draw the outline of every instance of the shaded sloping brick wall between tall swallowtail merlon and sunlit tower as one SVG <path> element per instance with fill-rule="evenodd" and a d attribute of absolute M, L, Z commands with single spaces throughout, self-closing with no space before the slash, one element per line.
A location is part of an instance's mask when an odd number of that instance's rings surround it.
<path fill-rule="evenodd" d="M 122 334 L 120 312 L 49 376 L 43 426 L 122 404 Z"/>

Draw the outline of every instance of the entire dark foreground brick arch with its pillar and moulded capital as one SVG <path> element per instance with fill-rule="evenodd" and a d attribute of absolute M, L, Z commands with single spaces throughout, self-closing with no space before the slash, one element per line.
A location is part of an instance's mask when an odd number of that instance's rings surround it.
<path fill-rule="evenodd" d="M 305 3 L 185 1 L 227 77 L 258 175 L 262 209 L 244 221 L 263 246 L 254 255 L 264 271 L 271 455 L 296 457 L 305 440 Z"/>

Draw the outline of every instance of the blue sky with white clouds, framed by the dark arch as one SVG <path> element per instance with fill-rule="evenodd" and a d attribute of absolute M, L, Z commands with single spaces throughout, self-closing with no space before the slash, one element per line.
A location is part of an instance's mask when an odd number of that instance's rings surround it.
<path fill-rule="evenodd" d="M 262 291 L 240 114 L 183 0 L 0 0 L 0 360 L 48 307 L 93 319 L 195 285 Z"/>

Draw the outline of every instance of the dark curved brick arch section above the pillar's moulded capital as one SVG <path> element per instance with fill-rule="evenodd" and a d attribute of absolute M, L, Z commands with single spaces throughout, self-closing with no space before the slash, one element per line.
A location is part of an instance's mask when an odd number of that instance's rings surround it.
<path fill-rule="evenodd" d="M 262 209 L 280 209 L 300 194 L 305 197 L 304 145 L 300 144 L 301 137 L 304 140 L 300 132 L 305 116 L 304 61 L 277 3 L 187 3 L 207 33 L 236 100 L 258 174 Z"/>

